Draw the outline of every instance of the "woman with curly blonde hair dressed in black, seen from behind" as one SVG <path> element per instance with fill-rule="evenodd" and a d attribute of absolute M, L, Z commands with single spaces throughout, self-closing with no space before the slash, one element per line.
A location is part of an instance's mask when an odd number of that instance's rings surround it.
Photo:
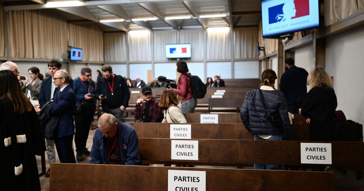
<path fill-rule="evenodd" d="M 333 83 L 325 68 L 316 66 L 309 73 L 310 91 L 302 103 L 301 115 L 310 125 L 311 141 L 331 141 L 334 138 L 337 99 Z"/>

